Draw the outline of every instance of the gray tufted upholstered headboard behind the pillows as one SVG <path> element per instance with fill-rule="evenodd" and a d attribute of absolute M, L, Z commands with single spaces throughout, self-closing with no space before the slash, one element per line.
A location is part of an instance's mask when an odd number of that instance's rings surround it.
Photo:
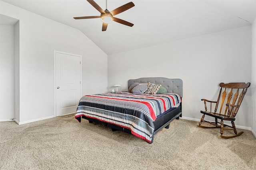
<path fill-rule="evenodd" d="M 182 97 L 183 95 L 183 82 L 179 78 L 164 78 L 164 77 L 148 77 L 148 78 L 138 78 L 138 79 L 131 79 L 128 80 L 128 88 L 134 83 L 154 83 L 154 84 L 161 84 L 164 86 L 168 92 L 170 93 L 177 93 Z"/>

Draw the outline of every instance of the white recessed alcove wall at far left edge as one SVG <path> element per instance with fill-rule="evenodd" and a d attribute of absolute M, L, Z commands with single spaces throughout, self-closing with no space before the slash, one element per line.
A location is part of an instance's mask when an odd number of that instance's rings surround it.
<path fill-rule="evenodd" d="M 14 116 L 14 25 L 0 25 L 0 121 Z"/>

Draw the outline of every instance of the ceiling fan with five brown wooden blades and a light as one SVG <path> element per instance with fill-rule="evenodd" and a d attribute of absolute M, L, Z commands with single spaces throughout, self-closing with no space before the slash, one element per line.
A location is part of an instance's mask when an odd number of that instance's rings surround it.
<path fill-rule="evenodd" d="M 106 29 L 108 27 L 108 23 L 111 23 L 112 21 L 116 21 L 118 23 L 122 23 L 122 24 L 130 26 L 130 27 L 132 27 L 134 25 L 133 23 L 130 23 L 128 21 L 124 21 L 124 20 L 114 17 L 115 15 L 120 14 L 121 12 L 124 12 L 124 11 L 129 10 L 130 8 L 134 7 L 135 5 L 133 2 L 124 4 L 123 6 L 120 6 L 116 9 L 112 10 L 111 12 L 109 12 L 107 9 L 107 0 L 106 0 L 106 10 L 105 11 L 102 10 L 102 8 L 100 8 L 100 6 L 98 6 L 98 4 L 96 4 L 96 2 L 94 2 L 93 0 L 87 0 L 87 1 L 96 10 L 98 10 L 100 12 L 100 16 L 74 17 L 74 19 L 79 20 L 79 19 L 89 19 L 89 18 L 100 18 L 103 22 L 102 31 L 106 31 Z"/>

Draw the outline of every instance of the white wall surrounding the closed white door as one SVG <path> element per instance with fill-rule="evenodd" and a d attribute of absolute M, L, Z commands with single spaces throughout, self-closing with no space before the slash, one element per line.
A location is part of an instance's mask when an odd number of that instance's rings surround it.
<path fill-rule="evenodd" d="M 54 115 L 54 50 L 82 55 L 82 95 L 106 92 L 107 55 L 81 31 L 2 1 L 0 13 L 19 20 L 21 124 Z"/>

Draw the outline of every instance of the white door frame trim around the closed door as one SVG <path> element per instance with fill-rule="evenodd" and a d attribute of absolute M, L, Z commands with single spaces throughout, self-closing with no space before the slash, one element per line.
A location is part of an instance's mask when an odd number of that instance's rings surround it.
<path fill-rule="evenodd" d="M 72 53 L 66 53 L 63 51 L 56 51 L 54 50 L 54 117 L 57 116 L 57 110 L 56 110 L 56 53 L 66 54 L 66 55 L 72 55 L 75 57 L 80 57 L 80 97 L 82 97 L 82 55 L 72 54 Z"/>

